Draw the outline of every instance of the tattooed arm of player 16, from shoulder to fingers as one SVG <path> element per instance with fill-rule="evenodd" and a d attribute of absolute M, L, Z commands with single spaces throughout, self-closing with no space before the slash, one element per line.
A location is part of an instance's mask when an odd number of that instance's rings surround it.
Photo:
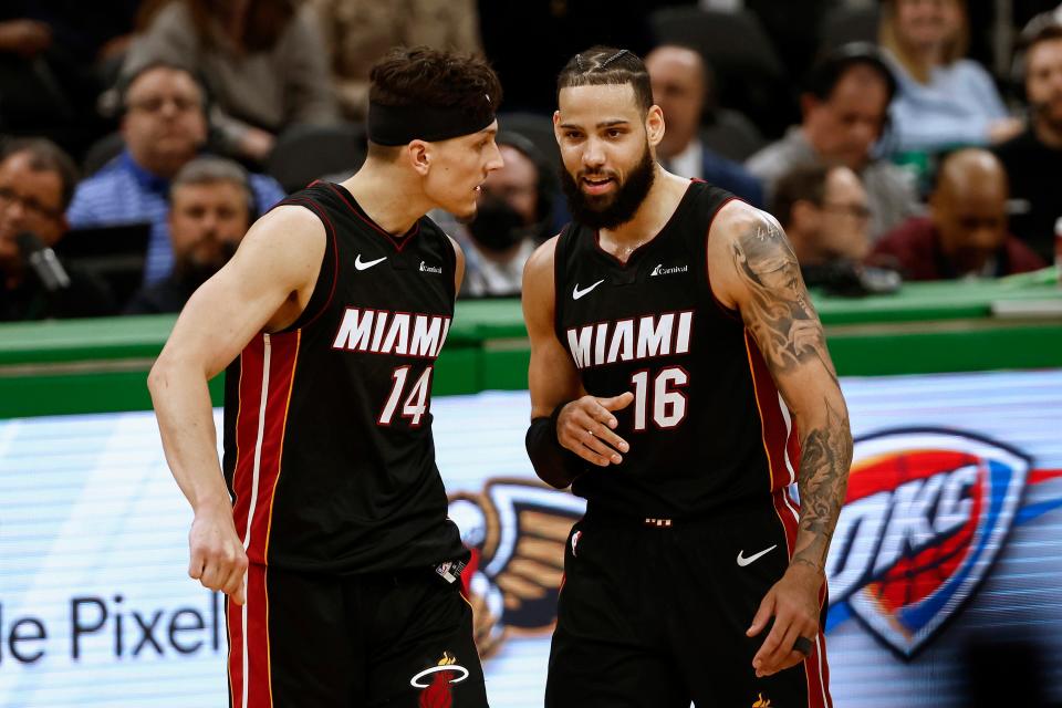
<path fill-rule="evenodd" d="M 852 435 L 822 324 L 773 217 L 740 202 L 725 207 L 711 227 L 708 262 L 712 291 L 740 311 L 800 433 L 801 512 L 793 558 L 749 628 L 750 635 L 759 634 L 774 616 L 753 659 L 757 675 L 768 675 L 804 658 L 793 650 L 798 637 L 818 635 L 819 592 L 844 503 Z"/>

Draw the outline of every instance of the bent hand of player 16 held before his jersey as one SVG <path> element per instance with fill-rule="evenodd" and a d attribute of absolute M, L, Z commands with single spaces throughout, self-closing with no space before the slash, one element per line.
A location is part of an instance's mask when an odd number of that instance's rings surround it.
<path fill-rule="evenodd" d="M 618 465 L 631 449 L 627 441 L 613 433 L 618 425 L 613 410 L 631 405 L 629 391 L 612 398 L 583 396 L 561 409 L 556 417 L 556 440 L 587 462 L 600 467 Z"/>

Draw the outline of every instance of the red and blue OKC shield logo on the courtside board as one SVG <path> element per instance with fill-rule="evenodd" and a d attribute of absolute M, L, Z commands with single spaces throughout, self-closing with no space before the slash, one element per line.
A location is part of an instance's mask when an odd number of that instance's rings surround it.
<path fill-rule="evenodd" d="M 950 430 L 857 440 L 826 562 L 831 605 L 846 603 L 897 654 L 915 656 L 991 569 L 1029 469 L 1016 450 Z"/>

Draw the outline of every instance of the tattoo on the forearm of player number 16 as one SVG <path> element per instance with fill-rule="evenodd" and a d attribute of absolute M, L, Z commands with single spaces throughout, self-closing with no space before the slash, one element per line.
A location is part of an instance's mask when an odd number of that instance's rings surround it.
<path fill-rule="evenodd" d="M 826 412 L 822 426 L 809 430 L 801 441 L 800 472 L 796 486 L 800 489 L 800 531 L 810 537 L 793 554 L 793 563 L 805 563 L 822 570 L 833 538 L 837 516 L 844 504 L 848 483 L 848 466 L 852 464 L 852 434 L 848 416 L 843 408 L 823 399 Z M 802 543 L 799 539 L 798 543 Z"/>

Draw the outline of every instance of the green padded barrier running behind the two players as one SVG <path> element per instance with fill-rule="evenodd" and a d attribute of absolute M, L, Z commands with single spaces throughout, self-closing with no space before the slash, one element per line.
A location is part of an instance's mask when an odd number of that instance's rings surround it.
<path fill-rule="evenodd" d="M 1062 366 L 1054 269 L 995 282 L 908 283 L 866 299 L 813 293 L 837 371 L 882 376 Z M 0 325 L 0 418 L 142 410 L 173 315 Z M 433 391 L 527 387 L 518 300 L 459 302 Z M 221 376 L 211 382 L 221 402 Z"/>

